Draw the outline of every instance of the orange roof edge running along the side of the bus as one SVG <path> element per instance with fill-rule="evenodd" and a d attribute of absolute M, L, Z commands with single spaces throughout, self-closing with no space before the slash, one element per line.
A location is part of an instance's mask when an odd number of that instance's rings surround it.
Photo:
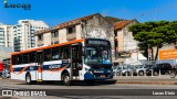
<path fill-rule="evenodd" d="M 49 45 L 49 46 L 34 47 L 34 48 L 30 48 L 30 50 L 21 51 L 21 52 L 13 52 L 13 53 L 11 53 L 11 55 L 18 55 L 18 54 L 30 53 L 30 52 L 35 52 L 35 51 L 42 51 L 42 50 L 48 50 L 48 48 L 52 48 L 52 47 L 56 47 L 56 46 L 63 46 L 63 45 L 80 43 L 80 42 L 84 42 L 84 40 L 83 38 L 82 40 L 74 40 L 74 41 L 69 41 L 69 42 L 64 42 L 64 43 L 60 43 L 60 44 L 53 44 L 53 45 Z"/>

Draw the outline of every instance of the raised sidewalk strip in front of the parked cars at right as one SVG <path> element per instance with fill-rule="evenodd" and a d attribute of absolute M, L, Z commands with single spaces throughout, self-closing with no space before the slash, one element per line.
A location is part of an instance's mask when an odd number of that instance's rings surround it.
<path fill-rule="evenodd" d="M 114 77 L 116 84 L 149 84 L 149 85 L 177 85 L 177 77 L 163 76 L 122 76 Z"/>

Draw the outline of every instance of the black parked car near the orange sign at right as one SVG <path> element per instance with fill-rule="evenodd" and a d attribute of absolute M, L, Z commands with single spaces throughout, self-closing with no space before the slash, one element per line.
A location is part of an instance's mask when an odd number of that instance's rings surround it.
<path fill-rule="evenodd" d="M 155 64 L 152 68 L 147 69 L 148 75 L 155 75 L 157 76 L 160 72 L 160 74 L 165 75 L 166 73 L 169 74 L 169 72 L 173 69 L 173 66 L 169 63 L 162 63 L 162 64 Z M 152 72 L 153 70 L 153 72 Z"/>

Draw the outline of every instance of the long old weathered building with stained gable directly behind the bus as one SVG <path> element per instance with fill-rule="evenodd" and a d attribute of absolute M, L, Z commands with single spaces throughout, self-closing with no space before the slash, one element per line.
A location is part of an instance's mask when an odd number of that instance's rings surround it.
<path fill-rule="evenodd" d="M 38 31 L 35 44 L 43 46 L 86 37 L 110 40 L 114 47 L 114 26 L 100 13 L 95 13 Z"/>

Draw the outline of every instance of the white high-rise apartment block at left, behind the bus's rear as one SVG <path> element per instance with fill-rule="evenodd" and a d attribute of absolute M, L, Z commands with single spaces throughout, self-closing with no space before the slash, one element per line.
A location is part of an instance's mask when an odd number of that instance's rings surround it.
<path fill-rule="evenodd" d="M 19 20 L 18 24 L 11 29 L 14 51 L 35 47 L 34 33 L 44 29 L 49 29 L 49 26 L 43 21 Z"/>

